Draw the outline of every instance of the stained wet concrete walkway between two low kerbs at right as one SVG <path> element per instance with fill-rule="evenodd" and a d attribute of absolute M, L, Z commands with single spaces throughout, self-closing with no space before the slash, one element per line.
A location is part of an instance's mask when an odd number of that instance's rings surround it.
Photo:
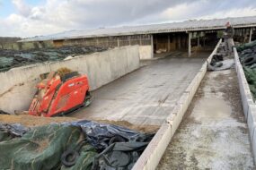
<path fill-rule="evenodd" d="M 207 72 L 157 169 L 255 169 L 234 69 Z"/>

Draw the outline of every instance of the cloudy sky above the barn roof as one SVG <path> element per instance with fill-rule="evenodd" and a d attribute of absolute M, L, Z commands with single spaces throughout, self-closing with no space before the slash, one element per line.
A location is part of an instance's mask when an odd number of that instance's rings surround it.
<path fill-rule="evenodd" d="M 0 36 L 252 15 L 255 0 L 0 0 Z"/>

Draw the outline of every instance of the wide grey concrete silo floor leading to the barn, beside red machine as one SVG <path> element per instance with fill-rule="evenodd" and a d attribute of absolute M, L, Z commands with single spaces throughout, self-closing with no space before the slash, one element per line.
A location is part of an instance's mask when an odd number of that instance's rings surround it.
<path fill-rule="evenodd" d="M 70 116 L 160 125 L 208 55 L 197 58 L 171 55 L 147 61 L 137 71 L 93 91 L 92 105 Z"/>

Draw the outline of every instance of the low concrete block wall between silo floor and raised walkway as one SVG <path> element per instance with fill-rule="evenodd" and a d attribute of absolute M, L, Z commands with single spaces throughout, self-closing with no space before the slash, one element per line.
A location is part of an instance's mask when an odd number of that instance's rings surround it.
<path fill-rule="evenodd" d="M 202 65 L 197 75 L 190 82 L 189 87 L 181 95 L 181 98 L 172 110 L 172 113 L 170 113 L 170 115 L 166 118 L 165 123 L 162 124 L 158 132 L 156 132 L 154 135 L 153 140 L 151 140 L 141 157 L 139 157 L 136 165 L 133 166 L 133 170 L 155 169 L 159 164 L 164 150 L 172 140 L 174 132 L 176 132 L 177 128 L 179 127 L 184 113 L 186 112 L 188 106 L 190 106 L 190 102 L 207 72 L 207 62 L 210 63 L 213 55 L 216 54 L 217 47 L 219 47 L 220 43 L 221 39 L 217 43 L 212 54 L 207 58 L 207 61 Z"/>

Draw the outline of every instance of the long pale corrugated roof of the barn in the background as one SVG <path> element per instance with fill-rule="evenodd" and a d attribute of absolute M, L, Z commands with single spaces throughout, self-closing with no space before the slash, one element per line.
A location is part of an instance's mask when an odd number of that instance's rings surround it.
<path fill-rule="evenodd" d="M 96 30 L 70 30 L 49 36 L 26 38 L 21 41 L 44 41 L 70 38 L 93 38 L 108 36 L 123 36 L 135 34 L 152 34 L 162 32 L 196 31 L 196 30 L 221 30 L 225 29 L 225 23 L 230 21 L 234 28 L 256 27 L 256 16 L 225 18 L 214 20 L 190 20 L 182 22 L 126 26 L 118 28 L 102 28 Z"/>

